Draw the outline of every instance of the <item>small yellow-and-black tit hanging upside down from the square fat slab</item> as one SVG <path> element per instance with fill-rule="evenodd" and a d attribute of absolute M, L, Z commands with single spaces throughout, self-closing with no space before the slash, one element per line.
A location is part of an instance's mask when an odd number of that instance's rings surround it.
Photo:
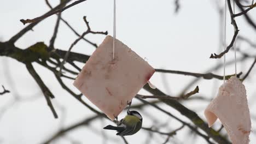
<path fill-rule="evenodd" d="M 107 125 L 103 129 L 117 130 L 117 135 L 133 135 L 137 133 L 142 127 L 142 116 L 137 111 L 130 111 L 131 102 L 129 104 L 129 109 L 127 110 L 127 115 L 125 118 L 118 122 L 117 117 L 117 127 L 113 125 Z"/>

